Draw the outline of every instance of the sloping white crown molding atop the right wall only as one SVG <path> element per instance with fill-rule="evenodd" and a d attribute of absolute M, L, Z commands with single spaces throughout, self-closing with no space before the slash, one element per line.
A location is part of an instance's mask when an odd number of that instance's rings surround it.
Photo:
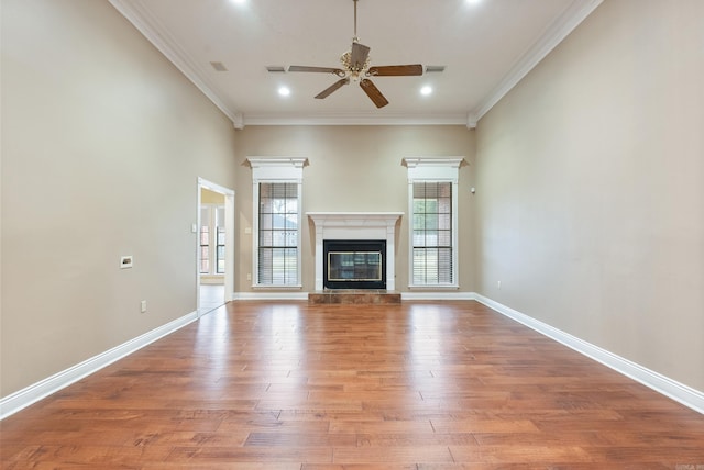
<path fill-rule="evenodd" d="M 506 77 L 477 105 L 470 111 L 468 122 L 476 122 L 504 98 L 522 78 L 528 75 L 550 52 L 556 48 L 582 21 L 584 21 L 603 0 L 574 0 L 564 12 L 548 27 L 546 33 L 514 64 Z"/>

